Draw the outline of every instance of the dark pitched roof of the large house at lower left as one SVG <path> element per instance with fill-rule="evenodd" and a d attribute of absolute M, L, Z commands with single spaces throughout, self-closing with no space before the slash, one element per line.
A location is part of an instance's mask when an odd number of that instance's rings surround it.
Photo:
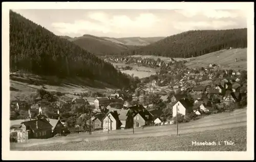
<path fill-rule="evenodd" d="M 36 123 L 37 123 L 37 127 L 36 127 Z M 21 124 L 24 124 L 26 127 L 29 127 L 34 131 L 52 128 L 52 125 L 45 118 L 25 121 L 25 122 L 22 122 Z"/>

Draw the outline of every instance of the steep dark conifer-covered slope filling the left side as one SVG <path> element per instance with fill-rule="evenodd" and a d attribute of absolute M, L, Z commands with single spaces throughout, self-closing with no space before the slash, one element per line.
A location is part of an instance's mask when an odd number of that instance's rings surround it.
<path fill-rule="evenodd" d="M 87 77 L 119 87 L 129 83 L 110 63 L 10 11 L 10 71 L 14 70 Z"/>

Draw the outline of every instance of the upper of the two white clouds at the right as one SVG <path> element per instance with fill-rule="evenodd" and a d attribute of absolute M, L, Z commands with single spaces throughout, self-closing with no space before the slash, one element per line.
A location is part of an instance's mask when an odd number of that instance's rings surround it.
<path fill-rule="evenodd" d="M 177 13 L 180 13 L 186 17 L 194 17 L 196 15 L 204 15 L 207 18 L 236 18 L 238 17 L 237 13 L 223 10 L 212 10 L 212 9 L 188 9 L 188 10 L 176 10 Z"/>

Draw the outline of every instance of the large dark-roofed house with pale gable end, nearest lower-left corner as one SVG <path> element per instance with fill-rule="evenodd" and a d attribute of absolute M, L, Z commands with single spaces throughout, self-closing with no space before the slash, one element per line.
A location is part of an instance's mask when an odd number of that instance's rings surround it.
<path fill-rule="evenodd" d="M 29 120 L 20 123 L 22 126 L 17 129 L 18 142 L 29 139 L 48 139 L 52 137 L 52 125 L 47 119 Z"/>

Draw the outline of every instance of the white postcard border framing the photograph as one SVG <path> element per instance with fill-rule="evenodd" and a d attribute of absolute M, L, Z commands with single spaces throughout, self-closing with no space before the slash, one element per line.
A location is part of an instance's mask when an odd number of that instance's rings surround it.
<path fill-rule="evenodd" d="M 197 151 L 10 151 L 9 9 L 239 9 L 248 16 L 248 108 L 246 152 Z M 172 2 L 3 2 L 2 3 L 2 159 L 254 159 L 254 5 L 252 3 Z"/>

